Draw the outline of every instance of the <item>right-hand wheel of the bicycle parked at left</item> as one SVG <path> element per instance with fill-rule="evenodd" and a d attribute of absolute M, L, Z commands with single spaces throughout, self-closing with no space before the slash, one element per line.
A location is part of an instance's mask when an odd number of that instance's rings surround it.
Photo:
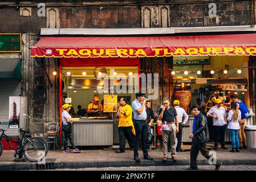
<path fill-rule="evenodd" d="M 23 147 L 23 154 L 27 160 L 30 162 L 40 162 L 44 159 L 48 152 L 48 145 L 46 140 L 40 137 L 29 138 L 29 141 L 25 141 Z"/>

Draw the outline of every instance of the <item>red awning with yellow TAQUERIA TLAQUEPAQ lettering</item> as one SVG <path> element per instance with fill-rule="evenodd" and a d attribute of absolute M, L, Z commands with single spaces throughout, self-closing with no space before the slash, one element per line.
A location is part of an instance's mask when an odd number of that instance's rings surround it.
<path fill-rule="evenodd" d="M 42 37 L 32 57 L 256 55 L 256 34 L 151 37 Z"/>

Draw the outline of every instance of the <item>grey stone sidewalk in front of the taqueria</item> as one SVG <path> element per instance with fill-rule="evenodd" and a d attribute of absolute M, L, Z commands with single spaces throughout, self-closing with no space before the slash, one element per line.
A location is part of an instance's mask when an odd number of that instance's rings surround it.
<path fill-rule="evenodd" d="M 231 148 L 231 146 L 227 145 Z M 241 150 L 239 153 L 231 153 L 229 150 L 219 149 L 216 151 L 217 159 L 224 165 L 256 165 L 256 148 Z M 214 151 L 214 150 L 212 150 Z M 125 153 L 116 154 L 115 150 L 82 150 L 80 154 L 72 152 L 63 154 L 62 150 L 48 151 L 46 163 L 51 164 L 40 166 L 37 163 L 13 162 L 14 151 L 3 151 L 0 157 L 0 169 L 19 170 L 19 169 L 39 169 L 39 168 L 86 168 L 86 167 L 130 167 L 130 166 L 184 166 L 190 163 L 190 152 L 177 152 L 177 162 L 168 159 L 162 161 L 162 151 L 152 150 L 149 155 L 153 161 L 144 160 L 143 152 L 139 150 L 141 162 L 136 163 L 133 160 L 133 151 L 126 150 Z M 52 160 L 55 159 L 55 160 Z M 201 155 L 198 155 L 199 165 L 209 165 L 208 161 Z"/>

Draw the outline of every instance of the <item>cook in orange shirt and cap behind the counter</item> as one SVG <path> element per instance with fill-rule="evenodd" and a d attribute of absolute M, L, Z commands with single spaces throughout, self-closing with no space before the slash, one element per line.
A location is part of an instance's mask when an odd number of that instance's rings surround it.
<path fill-rule="evenodd" d="M 88 104 L 87 113 L 89 117 L 97 117 L 100 116 L 100 111 L 103 111 L 103 106 L 99 103 L 100 97 L 95 94 L 94 102 Z"/>

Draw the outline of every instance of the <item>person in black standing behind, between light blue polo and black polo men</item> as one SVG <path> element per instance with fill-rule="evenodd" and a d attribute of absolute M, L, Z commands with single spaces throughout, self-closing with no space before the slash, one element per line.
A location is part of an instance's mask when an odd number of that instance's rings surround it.
<path fill-rule="evenodd" d="M 148 123 L 148 151 L 151 151 L 151 141 L 152 141 L 152 134 L 151 134 L 151 126 L 154 125 L 154 118 L 155 114 L 153 109 L 151 108 L 151 102 L 147 100 L 145 102 L 146 112 L 147 112 L 147 123 Z"/>

